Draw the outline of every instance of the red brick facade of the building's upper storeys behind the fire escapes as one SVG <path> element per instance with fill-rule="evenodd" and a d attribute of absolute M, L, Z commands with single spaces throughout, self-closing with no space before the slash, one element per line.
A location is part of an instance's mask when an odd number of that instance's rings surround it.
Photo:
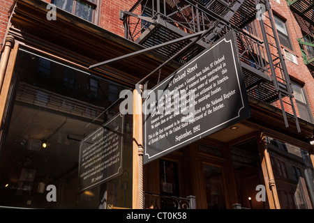
<path fill-rule="evenodd" d="M 47 3 L 50 3 L 50 0 L 43 0 Z M 0 43 L 3 44 L 4 37 L 6 36 L 6 29 L 8 26 L 9 20 L 9 11 L 11 6 L 13 6 L 14 0 L 0 0 Z M 112 31 L 119 36 L 124 36 L 124 25 L 123 22 L 119 19 L 119 11 L 120 10 L 129 10 L 136 1 L 114 1 L 114 0 L 103 0 L 98 1 L 98 21 L 96 22 L 98 26 L 103 29 L 107 29 L 108 31 Z M 290 34 L 290 40 L 292 42 L 293 50 L 287 49 L 297 56 L 297 63 L 295 64 L 291 61 L 286 61 L 286 66 L 289 75 L 295 81 L 298 81 L 301 84 L 304 84 L 304 89 L 306 90 L 306 95 L 308 98 L 308 103 L 311 107 L 312 114 L 314 115 L 314 80 L 311 75 L 311 71 L 304 64 L 304 61 L 301 56 L 301 51 L 299 49 L 299 44 L 297 42 L 297 38 L 303 36 L 301 31 L 301 26 L 295 19 L 294 15 L 290 12 L 290 8 L 287 6 L 287 3 L 282 0 L 281 3 L 277 1 L 270 0 L 271 8 L 275 15 L 279 15 L 283 20 L 287 23 L 287 29 Z M 135 12 L 138 13 L 138 12 Z M 137 22 L 137 19 L 133 19 L 134 22 Z M 304 31 L 308 31 L 313 28 L 313 26 L 306 27 Z M 282 47 L 283 50 L 284 47 Z M 274 52 L 276 54 L 276 52 Z M 287 100 L 288 101 L 288 100 Z M 281 107 L 280 103 L 277 101 L 274 103 L 276 107 Z M 296 108 L 297 109 L 297 108 Z M 286 112 L 290 112 L 292 114 L 292 109 L 290 106 L 285 106 Z M 297 114 L 299 112 L 297 110 Z"/>

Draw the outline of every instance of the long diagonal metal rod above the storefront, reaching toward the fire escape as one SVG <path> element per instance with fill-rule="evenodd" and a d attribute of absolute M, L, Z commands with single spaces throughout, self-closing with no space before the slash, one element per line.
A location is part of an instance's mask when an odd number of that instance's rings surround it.
<path fill-rule="evenodd" d="M 178 42 L 181 42 L 181 41 L 184 41 L 184 40 L 188 40 L 188 39 L 191 39 L 191 38 L 197 38 L 198 36 L 201 36 L 205 31 L 200 31 L 198 33 L 193 33 L 193 34 L 190 34 L 188 36 L 184 36 L 184 37 L 181 37 L 181 38 L 177 38 L 175 40 L 171 40 L 169 42 L 166 42 L 166 43 L 161 43 L 159 45 L 156 45 L 154 47 L 149 47 L 149 48 L 146 48 L 146 49 L 141 49 L 137 52 L 133 52 L 133 53 L 130 53 L 130 54 L 126 54 L 124 56 L 119 56 L 117 58 L 114 58 L 114 59 L 110 59 L 110 60 L 107 60 L 107 61 L 103 61 L 103 62 L 100 62 L 100 63 L 96 63 L 92 66 L 89 66 L 89 69 L 93 69 L 93 68 L 96 68 L 96 67 L 99 67 L 99 66 L 104 66 L 104 65 L 107 65 L 108 63 L 113 63 L 113 62 L 116 62 L 116 61 L 120 61 L 122 59 L 128 59 L 130 57 L 133 57 L 133 56 L 137 56 L 139 54 L 143 54 L 143 53 L 147 53 L 147 52 L 151 52 L 155 49 L 159 49 L 161 47 L 166 47 L 167 45 L 172 45 L 174 43 L 178 43 Z"/>

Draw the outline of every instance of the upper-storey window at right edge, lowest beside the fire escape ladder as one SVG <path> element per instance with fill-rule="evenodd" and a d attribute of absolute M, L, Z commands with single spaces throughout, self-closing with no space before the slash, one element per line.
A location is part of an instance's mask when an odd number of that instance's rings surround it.
<path fill-rule="evenodd" d="M 298 84 L 292 84 L 292 89 L 294 91 L 294 98 L 297 103 L 300 118 L 313 123 L 313 115 L 310 107 L 308 106 L 304 88 Z"/>

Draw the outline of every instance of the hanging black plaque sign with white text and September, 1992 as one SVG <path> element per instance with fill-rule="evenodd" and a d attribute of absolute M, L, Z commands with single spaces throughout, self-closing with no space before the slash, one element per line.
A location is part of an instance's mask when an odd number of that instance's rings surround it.
<path fill-rule="evenodd" d="M 251 115 L 235 43 L 230 31 L 147 94 L 143 110 L 153 106 L 151 95 L 156 95 L 156 111 L 163 109 L 144 115 L 144 163 Z M 157 96 L 158 91 L 165 93 Z M 193 112 L 177 109 L 184 108 L 182 97 Z"/>

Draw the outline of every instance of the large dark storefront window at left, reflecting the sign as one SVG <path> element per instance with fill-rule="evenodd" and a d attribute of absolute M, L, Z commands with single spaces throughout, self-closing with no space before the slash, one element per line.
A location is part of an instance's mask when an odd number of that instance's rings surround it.
<path fill-rule="evenodd" d="M 24 49 L 13 75 L 0 206 L 131 208 L 133 122 L 118 100 L 126 86 Z"/>

